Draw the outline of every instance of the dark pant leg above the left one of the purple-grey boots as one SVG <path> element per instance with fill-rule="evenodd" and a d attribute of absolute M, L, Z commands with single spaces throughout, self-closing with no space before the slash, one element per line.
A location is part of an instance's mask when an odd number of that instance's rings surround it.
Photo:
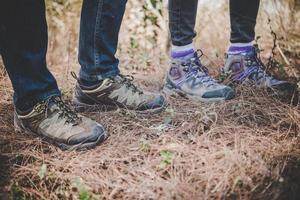
<path fill-rule="evenodd" d="M 172 44 L 185 46 L 196 36 L 198 0 L 169 0 L 169 28 Z"/>

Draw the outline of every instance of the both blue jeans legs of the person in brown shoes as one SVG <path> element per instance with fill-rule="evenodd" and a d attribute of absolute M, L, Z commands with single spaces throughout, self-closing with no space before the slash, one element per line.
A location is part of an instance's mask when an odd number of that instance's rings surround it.
<path fill-rule="evenodd" d="M 79 41 L 80 78 L 101 80 L 119 73 L 115 57 L 126 0 L 84 0 Z M 18 110 L 60 95 L 47 69 L 48 43 L 42 0 L 0 2 L 0 54 Z"/>

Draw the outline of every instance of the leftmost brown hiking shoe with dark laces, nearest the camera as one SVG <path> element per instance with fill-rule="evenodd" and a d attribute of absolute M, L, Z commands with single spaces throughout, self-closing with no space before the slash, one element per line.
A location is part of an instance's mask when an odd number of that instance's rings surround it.
<path fill-rule="evenodd" d="M 89 149 L 106 139 L 100 124 L 75 113 L 60 97 L 38 103 L 27 114 L 15 111 L 14 122 L 17 132 L 36 134 L 63 150 Z"/>

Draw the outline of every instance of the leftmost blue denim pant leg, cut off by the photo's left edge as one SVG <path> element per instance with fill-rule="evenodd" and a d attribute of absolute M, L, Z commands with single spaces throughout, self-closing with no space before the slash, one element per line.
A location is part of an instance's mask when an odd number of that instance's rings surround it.
<path fill-rule="evenodd" d="M 42 0 L 0 2 L 0 53 L 14 88 L 17 109 L 60 95 L 46 66 L 47 23 Z"/>

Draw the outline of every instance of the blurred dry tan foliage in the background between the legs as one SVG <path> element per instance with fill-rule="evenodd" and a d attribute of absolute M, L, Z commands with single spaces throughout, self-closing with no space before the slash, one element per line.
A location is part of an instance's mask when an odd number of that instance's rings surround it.
<path fill-rule="evenodd" d="M 165 65 L 170 47 L 167 0 L 130 0 L 120 33 L 118 54 L 125 69 L 147 71 Z M 49 66 L 68 73 L 77 64 L 82 0 L 46 0 L 49 25 Z M 217 72 L 229 44 L 228 0 L 199 1 L 195 44 Z M 300 0 L 262 0 L 257 21 L 258 43 L 268 60 L 274 47 L 279 64 L 273 71 L 299 80 Z M 66 67 L 67 66 L 67 67 Z M 3 67 L 2 67 L 3 69 Z M 1 72 L 3 74 L 3 70 Z"/>

